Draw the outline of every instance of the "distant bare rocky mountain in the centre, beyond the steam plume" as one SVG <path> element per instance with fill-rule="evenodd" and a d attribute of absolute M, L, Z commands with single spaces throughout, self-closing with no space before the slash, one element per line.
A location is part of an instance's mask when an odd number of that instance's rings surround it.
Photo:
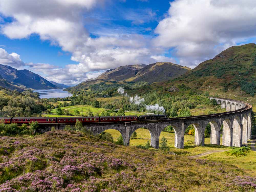
<path fill-rule="evenodd" d="M 99 77 L 84 81 L 67 90 L 86 89 L 89 88 L 90 85 L 102 82 L 159 82 L 179 77 L 188 70 L 190 70 L 190 68 L 170 62 L 157 62 L 150 65 L 136 64 L 120 66 L 116 69 L 107 70 Z"/>

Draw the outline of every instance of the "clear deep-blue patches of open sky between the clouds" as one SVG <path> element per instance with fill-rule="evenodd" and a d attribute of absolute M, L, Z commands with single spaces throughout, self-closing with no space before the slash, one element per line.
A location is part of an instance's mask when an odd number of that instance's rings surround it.
<path fill-rule="evenodd" d="M 110 5 L 110 6 L 109 6 Z M 157 26 L 159 20 L 169 9 L 169 1 L 119 1 L 109 2 L 108 5 L 96 7 L 94 13 L 85 14 L 83 17 L 95 18 L 95 21 L 86 24 L 85 27 L 89 30 L 92 38 L 99 37 L 98 30 L 108 28 L 109 30 L 124 30 L 129 33 L 143 34 L 154 36 L 153 29 Z M 145 21 L 143 24 L 133 24 L 135 15 L 122 15 L 122 13 L 136 13 L 137 15 L 147 17 L 145 9 L 155 13 L 155 18 Z M 103 11 L 103 12 L 102 12 Z M 144 12 L 144 13 L 141 13 Z M 138 18 L 140 19 L 140 18 Z M 6 19 L 7 22 L 12 21 L 11 18 Z M 150 28 L 151 30 L 147 29 Z M 146 30 L 145 30 L 146 29 Z M 0 44 L 4 45 L 7 52 L 16 52 L 21 56 L 24 62 L 33 63 L 51 63 L 52 65 L 65 66 L 68 64 L 78 64 L 78 62 L 70 60 L 72 53 L 62 51 L 58 45 L 51 45 L 51 42 L 40 40 L 37 34 L 32 34 L 27 38 L 10 39 L 3 34 L 0 34 Z"/>

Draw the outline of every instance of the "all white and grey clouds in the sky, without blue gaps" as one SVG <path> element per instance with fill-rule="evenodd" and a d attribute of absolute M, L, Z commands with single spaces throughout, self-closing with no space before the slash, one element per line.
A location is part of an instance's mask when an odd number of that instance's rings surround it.
<path fill-rule="evenodd" d="M 13 18 L 11 22 L 1 25 L 2 34 L 10 39 L 38 34 L 41 40 L 49 40 L 63 51 L 70 52 L 71 60 L 79 64 L 65 67 L 50 63 L 24 64 L 18 54 L 8 54 L 1 48 L 0 63 L 13 67 L 26 66 L 49 80 L 72 85 L 96 77 L 103 70 L 134 63 L 178 60 L 181 65 L 195 67 L 221 50 L 255 37 L 254 0 L 171 2 L 168 14 L 154 30 L 157 37 L 111 29 L 107 33 L 99 31 L 99 37 L 92 38 L 84 26 L 93 22 L 84 14 L 92 14 L 96 6 L 103 7 L 104 1 L 1 0 L 2 15 Z M 148 17 L 138 13 L 125 18 L 134 25 L 153 20 L 155 13 L 146 11 Z M 170 48 L 174 49 L 172 56 L 175 59 L 163 56 Z"/>

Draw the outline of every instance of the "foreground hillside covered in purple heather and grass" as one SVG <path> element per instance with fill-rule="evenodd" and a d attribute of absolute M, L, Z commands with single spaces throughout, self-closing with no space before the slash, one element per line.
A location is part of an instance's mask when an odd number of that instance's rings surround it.
<path fill-rule="evenodd" d="M 76 131 L 0 137 L 0 191 L 253 191 L 233 165 L 125 147 Z"/>

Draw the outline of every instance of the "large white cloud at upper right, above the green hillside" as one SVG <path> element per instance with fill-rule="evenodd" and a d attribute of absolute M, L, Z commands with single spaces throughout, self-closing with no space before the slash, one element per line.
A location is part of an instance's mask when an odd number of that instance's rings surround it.
<path fill-rule="evenodd" d="M 182 65 L 199 62 L 256 35 L 256 1 L 180 0 L 155 29 L 155 46 L 175 47 Z"/>

